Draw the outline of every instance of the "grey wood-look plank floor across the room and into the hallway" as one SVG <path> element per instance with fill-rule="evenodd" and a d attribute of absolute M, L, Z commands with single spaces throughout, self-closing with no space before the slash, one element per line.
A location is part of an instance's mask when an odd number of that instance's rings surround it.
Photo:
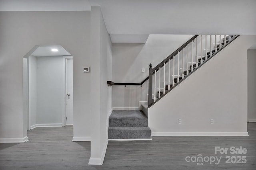
<path fill-rule="evenodd" d="M 39 127 L 27 143 L 0 143 L 0 170 L 256 170 L 256 123 L 249 137 L 153 137 L 152 141 L 109 141 L 102 166 L 88 165 L 90 142 L 71 142 L 73 127 Z M 226 164 L 214 147 L 244 147 L 245 164 Z M 222 156 L 220 164 L 196 165 L 186 156 Z M 238 155 L 236 155 L 238 156 Z"/>

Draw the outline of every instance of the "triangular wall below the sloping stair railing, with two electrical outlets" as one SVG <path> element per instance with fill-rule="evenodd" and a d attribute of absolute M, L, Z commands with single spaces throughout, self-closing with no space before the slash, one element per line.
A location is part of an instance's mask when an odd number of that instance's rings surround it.
<path fill-rule="evenodd" d="M 256 35 L 238 37 L 148 108 L 152 136 L 248 135 L 246 52 L 252 45 Z"/>

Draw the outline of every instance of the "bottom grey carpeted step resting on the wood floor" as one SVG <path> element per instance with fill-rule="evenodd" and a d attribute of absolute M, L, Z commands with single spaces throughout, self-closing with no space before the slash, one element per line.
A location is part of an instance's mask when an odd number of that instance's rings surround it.
<path fill-rule="evenodd" d="M 108 127 L 108 139 L 151 139 L 149 127 Z"/>

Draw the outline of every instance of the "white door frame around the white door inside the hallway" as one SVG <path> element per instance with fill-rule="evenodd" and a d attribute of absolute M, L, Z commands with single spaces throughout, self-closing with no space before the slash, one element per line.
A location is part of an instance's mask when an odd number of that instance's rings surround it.
<path fill-rule="evenodd" d="M 62 90 L 62 126 L 67 125 L 67 61 L 73 60 L 73 56 L 63 56 L 62 62 L 63 62 L 63 87 Z"/>

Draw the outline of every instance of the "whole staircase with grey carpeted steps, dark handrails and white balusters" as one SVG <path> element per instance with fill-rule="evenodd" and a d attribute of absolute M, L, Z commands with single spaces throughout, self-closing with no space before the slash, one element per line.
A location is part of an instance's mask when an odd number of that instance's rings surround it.
<path fill-rule="evenodd" d="M 158 102 L 238 36 L 195 35 L 156 67 L 152 68 L 150 64 L 149 76 L 141 83 L 108 82 L 109 86 L 142 86 L 148 82 L 148 104 L 142 104 L 142 111 L 113 111 L 109 117 L 108 139 L 151 139 L 148 107 Z"/>

